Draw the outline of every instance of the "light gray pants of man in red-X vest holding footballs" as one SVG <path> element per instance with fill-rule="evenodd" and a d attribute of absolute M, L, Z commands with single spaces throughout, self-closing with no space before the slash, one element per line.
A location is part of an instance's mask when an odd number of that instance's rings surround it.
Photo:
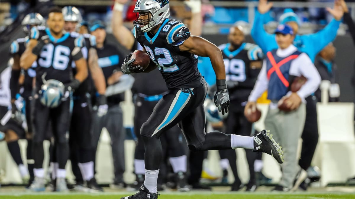
<path fill-rule="evenodd" d="M 270 130 L 276 142 L 280 143 L 285 155 L 281 165 L 282 177 L 279 185 L 287 188 L 293 186 L 298 171 L 297 146 L 306 119 L 304 103 L 292 112 L 269 108 L 265 119 L 265 127 Z"/>

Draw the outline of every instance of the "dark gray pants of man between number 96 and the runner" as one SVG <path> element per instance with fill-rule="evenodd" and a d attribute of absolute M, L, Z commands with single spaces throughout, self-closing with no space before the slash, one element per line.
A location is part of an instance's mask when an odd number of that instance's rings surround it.
<path fill-rule="evenodd" d="M 111 137 L 111 148 L 113 156 L 115 183 L 123 182 L 123 173 L 125 172 L 125 150 L 124 141 L 126 133 L 123 128 L 122 109 L 119 105 L 109 107 L 106 115 L 99 118 L 97 112 L 93 115 L 93 146 L 96 150 L 102 128 L 105 127 Z M 96 158 L 95 158 L 96 160 Z"/>

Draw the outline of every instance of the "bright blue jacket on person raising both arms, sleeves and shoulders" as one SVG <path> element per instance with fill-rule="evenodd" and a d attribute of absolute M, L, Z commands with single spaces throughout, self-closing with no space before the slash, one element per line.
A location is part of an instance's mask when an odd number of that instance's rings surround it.
<path fill-rule="evenodd" d="M 269 34 L 264 29 L 263 18 L 266 14 L 261 14 L 256 11 L 253 28 L 251 29 L 251 36 L 255 43 L 260 46 L 264 54 L 273 49 L 277 49 L 275 34 Z M 325 46 L 332 42 L 337 36 L 337 31 L 340 21 L 332 19 L 332 21 L 317 33 L 296 35 L 294 45 L 301 51 L 307 53 L 314 63 L 315 58 Z"/>

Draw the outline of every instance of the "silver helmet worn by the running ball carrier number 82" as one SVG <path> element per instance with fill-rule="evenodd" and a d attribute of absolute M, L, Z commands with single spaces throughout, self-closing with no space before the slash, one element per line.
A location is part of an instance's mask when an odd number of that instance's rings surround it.
<path fill-rule="evenodd" d="M 133 12 L 136 12 L 137 20 L 133 21 L 135 28 L 138 31 L 149 32 L 151 29 L 162 23 L 164 19 L 170 17 L 169 1 L 168 0 L 137 0 L 136 7 Z M 146 13 L 148 19 L 138 20 L 140 14 Z"/>

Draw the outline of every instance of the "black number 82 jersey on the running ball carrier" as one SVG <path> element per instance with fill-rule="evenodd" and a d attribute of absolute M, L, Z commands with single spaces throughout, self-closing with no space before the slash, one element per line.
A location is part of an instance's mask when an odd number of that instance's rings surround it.
<path fill-rule="evenodd" d="M 197 56 L 179 49 L 190 37 L 190 30 L 183 23 L 167 18 L 155 35 L 137 29 L 133 30 L 133 35 L 158 65 L 168 89 L 202 86 Z"/>

